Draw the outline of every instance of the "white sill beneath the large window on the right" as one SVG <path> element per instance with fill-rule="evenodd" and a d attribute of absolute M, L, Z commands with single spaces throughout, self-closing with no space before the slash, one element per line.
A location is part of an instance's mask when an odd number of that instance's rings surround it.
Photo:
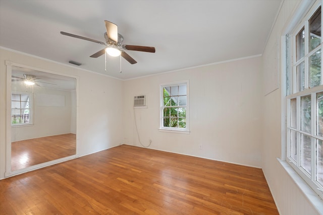
<path fill-rule="evenodd" d="M 288 175 L 293 179 L 298 188 L 303 192 L 308 201 L 313 205 L 313 207 L 318 211 L 323 211 L 323 200 L 312 190 L 310 186 L 296 173 L 296 171 L 287 163 L 277 158 L 279 163 L 288 173 Z"/>

